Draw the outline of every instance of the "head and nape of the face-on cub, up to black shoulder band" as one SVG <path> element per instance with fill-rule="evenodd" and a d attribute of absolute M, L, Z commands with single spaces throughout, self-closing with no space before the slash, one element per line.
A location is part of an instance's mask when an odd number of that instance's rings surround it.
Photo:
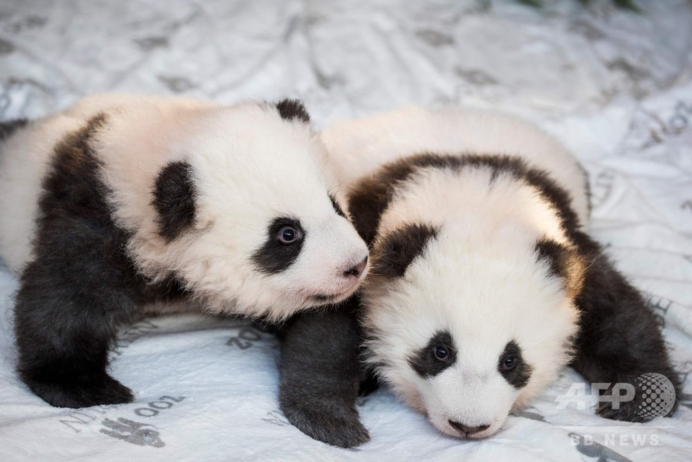
<path fill-rule="evenodd" d="M 570 358 L 583 261 L 527 172 L 501 157 L 411 157 L 349 197 L 361 234 L 376 230 L 367 359 L 449 436 L 494 434 Z"/>

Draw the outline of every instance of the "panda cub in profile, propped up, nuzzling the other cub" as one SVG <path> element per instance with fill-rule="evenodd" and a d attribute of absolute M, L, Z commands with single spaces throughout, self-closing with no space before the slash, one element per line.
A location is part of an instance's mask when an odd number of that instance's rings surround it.
<path fill-rule="evenodd" d="M 345 299 L 367 247 L 328 171 L 295 100 L 101 95 L 0 125 L 21 379 L 56 407 L 129 402 L 107 353 L 145 309 L 182 300 L 275 321 Z"/>

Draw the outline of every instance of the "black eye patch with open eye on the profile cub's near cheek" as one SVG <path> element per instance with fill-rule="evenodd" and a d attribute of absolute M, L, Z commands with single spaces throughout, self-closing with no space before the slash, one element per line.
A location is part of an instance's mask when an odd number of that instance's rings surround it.
<path fill-rule="evenodd" d="M 298 260 L 305 240 L 300 221 L 277 217 L 267 227 L 266 241 L 252 256 L 257 271 L 277 274 L 289 269 Z"/>

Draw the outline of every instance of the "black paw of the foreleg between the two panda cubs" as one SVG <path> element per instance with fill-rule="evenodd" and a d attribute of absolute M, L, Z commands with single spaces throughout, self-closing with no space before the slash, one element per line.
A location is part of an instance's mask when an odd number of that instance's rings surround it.
<path fill-rule="evenodd" d="M 293 426 L 323 443 L 354 447 L 370 441 L 370 434 L 352 405 L 316 401 L 307 407 L 281 400 L 281 410 Z"/>

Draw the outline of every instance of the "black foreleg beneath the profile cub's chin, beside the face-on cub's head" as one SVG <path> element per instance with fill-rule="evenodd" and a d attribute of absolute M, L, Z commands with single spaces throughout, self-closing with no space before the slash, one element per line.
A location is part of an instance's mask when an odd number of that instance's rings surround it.
<path fill-rule="evenodd" d="M 279 331 L 279 403 L 301 432 L 340 447 L 370 440 L 356 411 L 361 382 L 356 308 L 347 305 L 295 316 Z"/>

